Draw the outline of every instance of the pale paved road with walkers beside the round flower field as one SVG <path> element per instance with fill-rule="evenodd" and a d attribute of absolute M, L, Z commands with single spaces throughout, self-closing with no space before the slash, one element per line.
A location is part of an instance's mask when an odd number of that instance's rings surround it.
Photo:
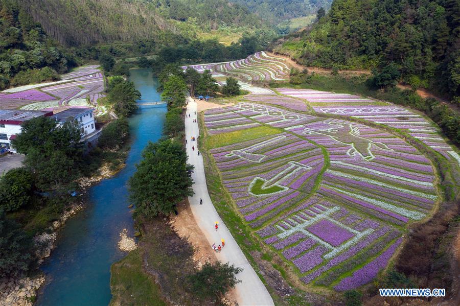
<path fill-rule="evenodd" d="M 186 119 L 187 154 L 189 155 L 189 163 L 195 166 L 192 174 L 195 182 L 193 185 L 195 195 L 189 197 L 193 216 L 208 240 L 210 248 L 213 243 L 219 245 L 221 238 L 225 240 L 225 247 L 220 253 L 217 253 L 218 260 L 223 263 L 229 262 L 230 264 L 234 264 L 235 267 L 244 269 L 243 272 L 237 275 L 238 279 L 242 281 L 236 286 L 238 303 L 240 305 L 273 305 L 273 300 L 264 284 L 254 269 L 252 269 L 211 202 L 204 177 L 203 158 L 201 155 L 198 156 L 197 153 L 198 142 L 190 140 L 191 136 L 195 136 L 197 139 L 199 135 L 198 123 L 193 123 L 193 119 L 197 119 L 197 115 L 195 115 L 197 104 L 191 98 L 188 98 L 188 102 L 187 114 L 191 114 L 191 117 Z M 192 146 L 195 147 L 194 151 L 192 151 Z M 203 199 L 202 205 L 199 204 L 200 198 Z M 219 229 L 217 231 L 214 228 L 215 221 L 219 222 Z"/>

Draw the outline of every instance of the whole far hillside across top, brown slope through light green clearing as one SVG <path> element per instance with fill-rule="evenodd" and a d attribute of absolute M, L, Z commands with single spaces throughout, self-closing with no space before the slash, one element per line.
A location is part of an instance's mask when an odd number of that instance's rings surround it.
<path fill-rule="evenodd" d="M 67 46 L 141 40 L 176 44 L 184 37 L 217 37 L 229 44 L 244 33 L 266 41 L 277 34 L 268 22 L 228 0 L 16 1 Z"/>

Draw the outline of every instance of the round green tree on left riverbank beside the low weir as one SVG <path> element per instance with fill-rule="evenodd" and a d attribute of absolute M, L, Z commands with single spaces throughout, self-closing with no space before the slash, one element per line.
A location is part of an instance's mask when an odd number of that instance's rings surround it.
<path fill-rule="evenodd" d="M 141 93 L 133 82 L 123 81 L 110 89 L 107 99 L 117 114 L 128 117 L 137 109 L 136 101 L 141 99 Z"/>

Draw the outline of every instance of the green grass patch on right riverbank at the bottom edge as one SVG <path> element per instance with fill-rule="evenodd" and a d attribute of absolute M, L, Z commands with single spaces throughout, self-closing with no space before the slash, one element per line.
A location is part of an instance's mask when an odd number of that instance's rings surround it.
<path fill-rule="evenodd" d="M 153 278 L 142 269 L 137 250 L 114 263 L 110 273 L 110 305 L 166 305 Z"/>

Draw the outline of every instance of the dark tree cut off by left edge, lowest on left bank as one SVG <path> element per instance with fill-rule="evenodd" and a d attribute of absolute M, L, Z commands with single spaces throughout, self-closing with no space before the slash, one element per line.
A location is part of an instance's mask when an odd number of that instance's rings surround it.
<path fill-rule="evenodd" d="M 0 277 L 15 276 L 29 269 L 32 239 L 0 209 Z"/>

